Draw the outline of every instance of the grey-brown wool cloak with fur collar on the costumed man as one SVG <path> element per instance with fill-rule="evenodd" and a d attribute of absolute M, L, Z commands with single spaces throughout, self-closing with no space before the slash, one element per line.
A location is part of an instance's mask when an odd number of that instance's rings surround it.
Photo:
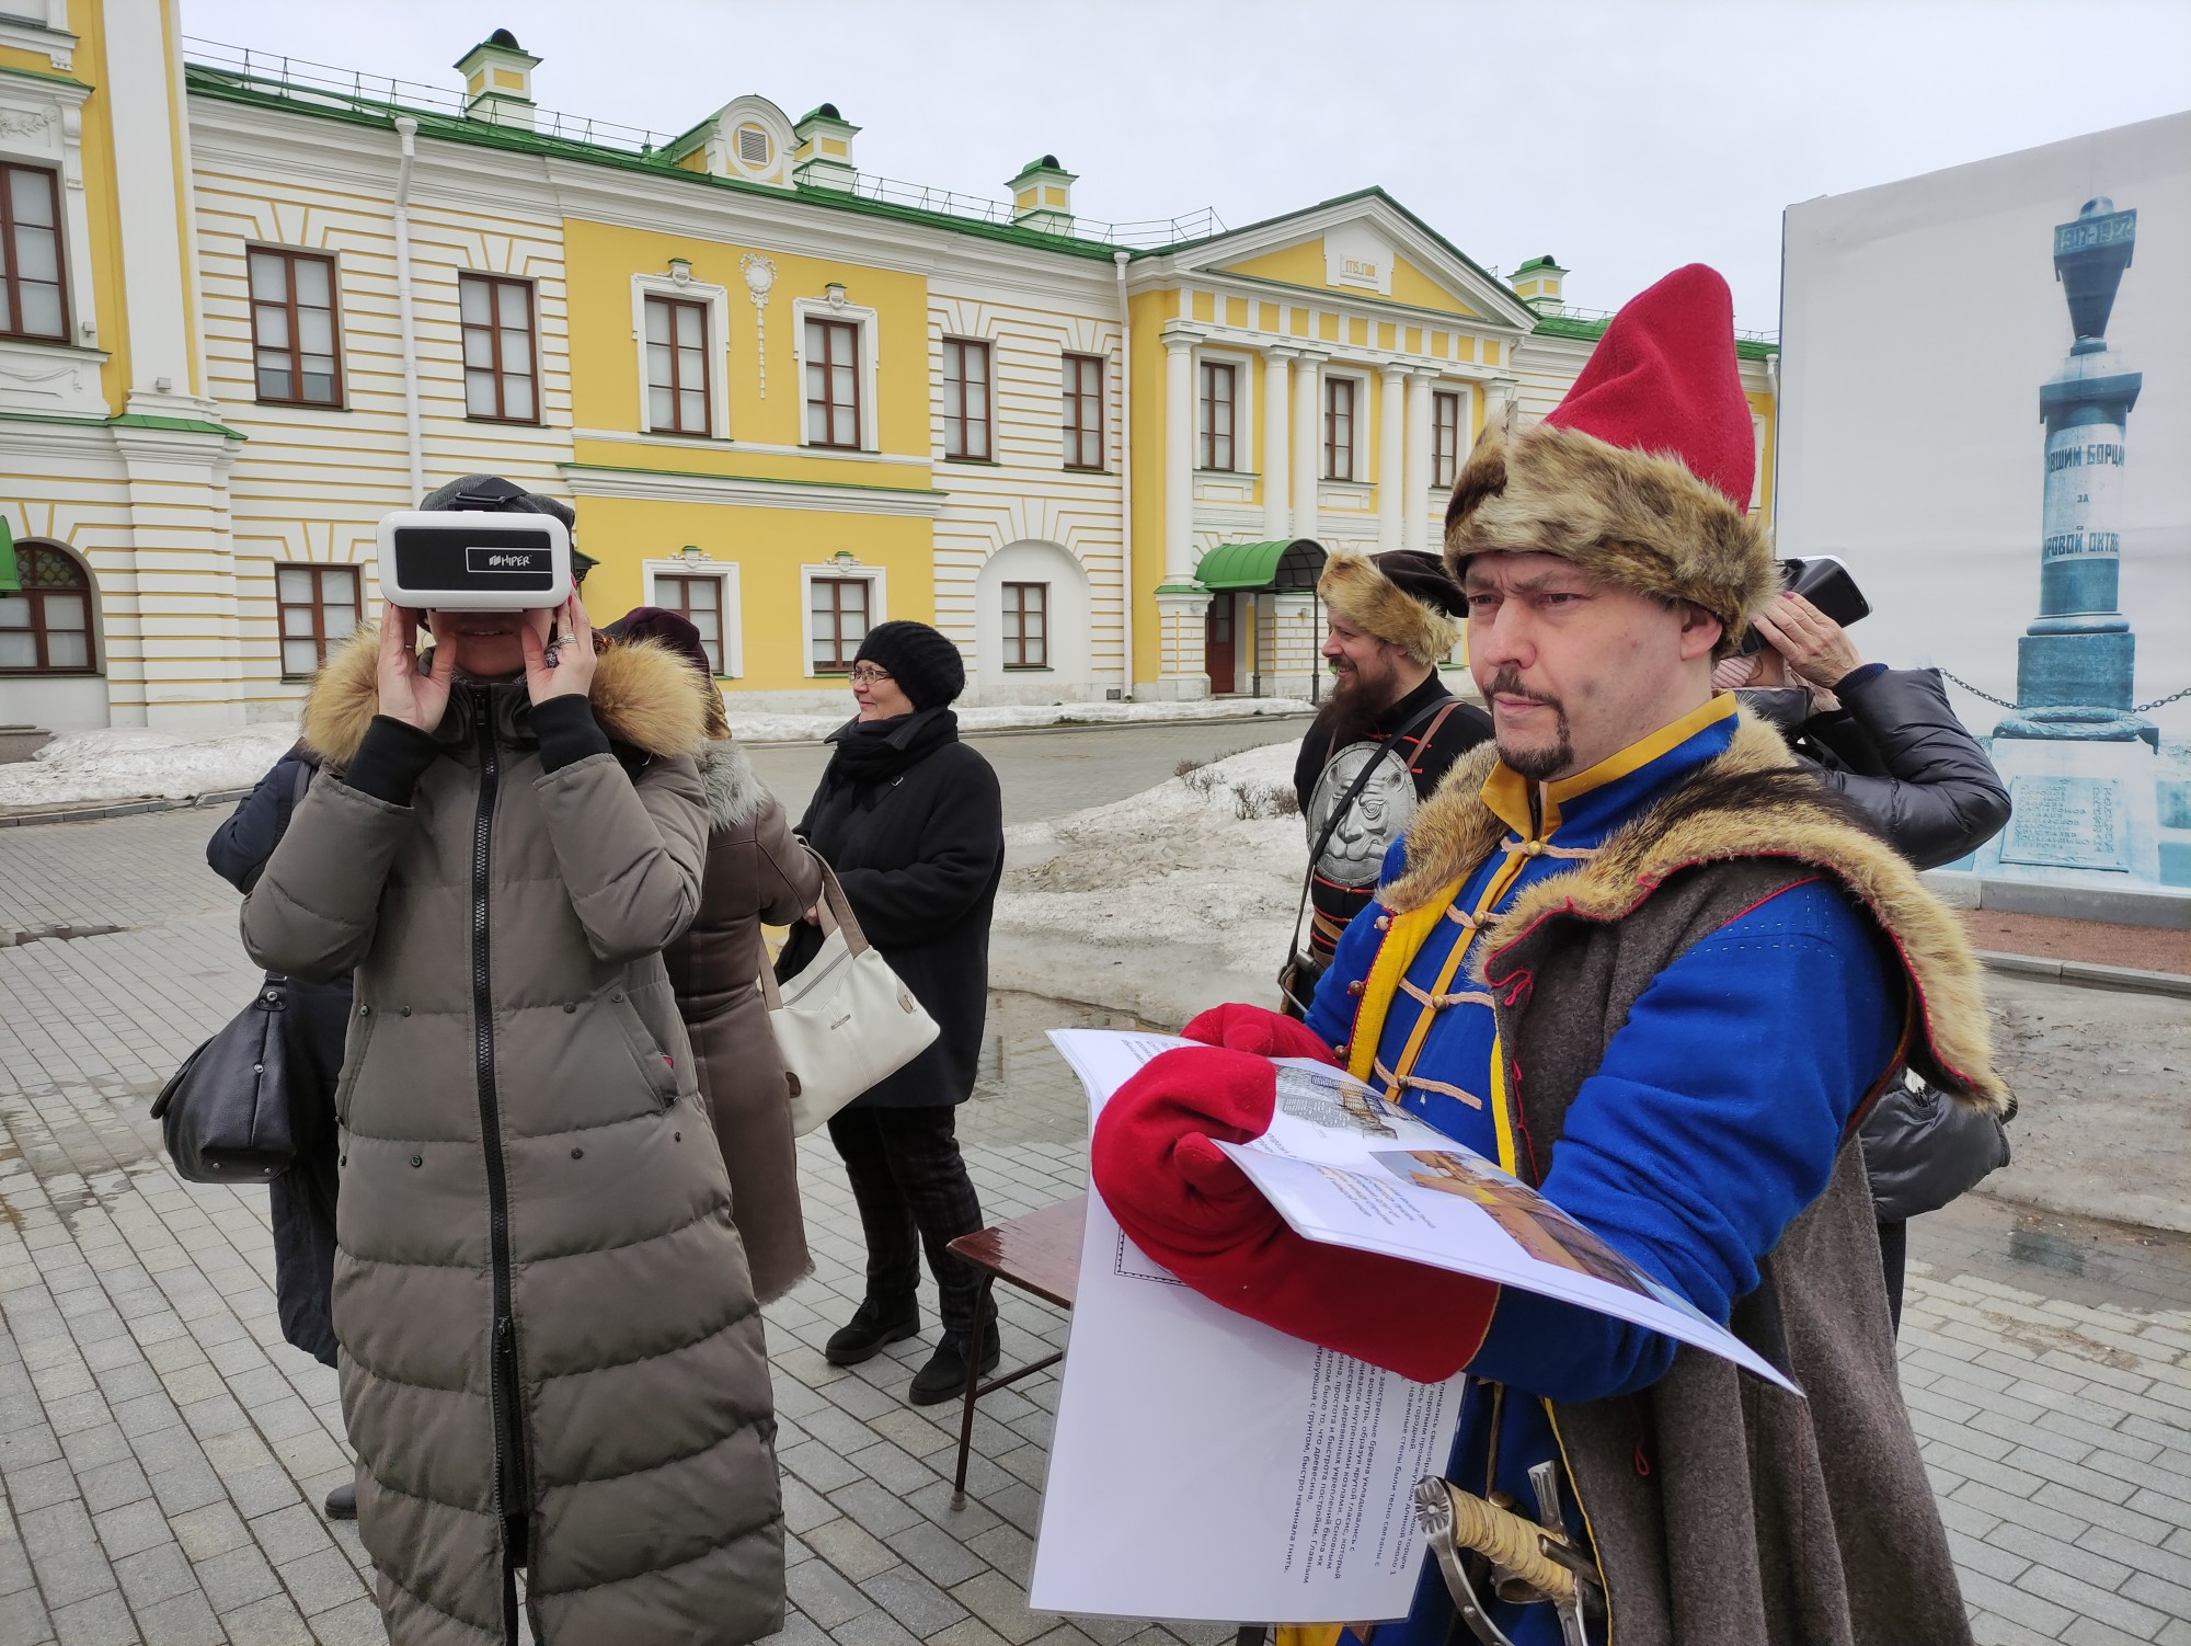
<path fill-rule="evenodd" d="M 1499 848 L 1464 761 L 1409 828 L 1380 901 L 1424 907 Z M 1494 997 L 1521 1173 L 1540 1181 L 1569 1105 L 1630 1006 L 1691 942 L 1825 872 L 1889 934 L 1911 988 L 1908 1061 L 2000 1111 L 1978 967 L 1915 870 L 1794 769 L 1744 715 L 1733 745 L 1586 864 L 1499 916 L 1477 980 Z M 1551 1403 L 1606 1576 L 1617 1646 L 1968 1646 L 1954 1561 L 1917 1455 L 1880 1287 L 1856 1127 L 1825 1192 L 1759 1262 L 1733 1330 L 1808 1401 L 1698 1348 L 1641 1401 Z M 1637 1466 L 1645 1458 L 1648 1468 Z"/>

